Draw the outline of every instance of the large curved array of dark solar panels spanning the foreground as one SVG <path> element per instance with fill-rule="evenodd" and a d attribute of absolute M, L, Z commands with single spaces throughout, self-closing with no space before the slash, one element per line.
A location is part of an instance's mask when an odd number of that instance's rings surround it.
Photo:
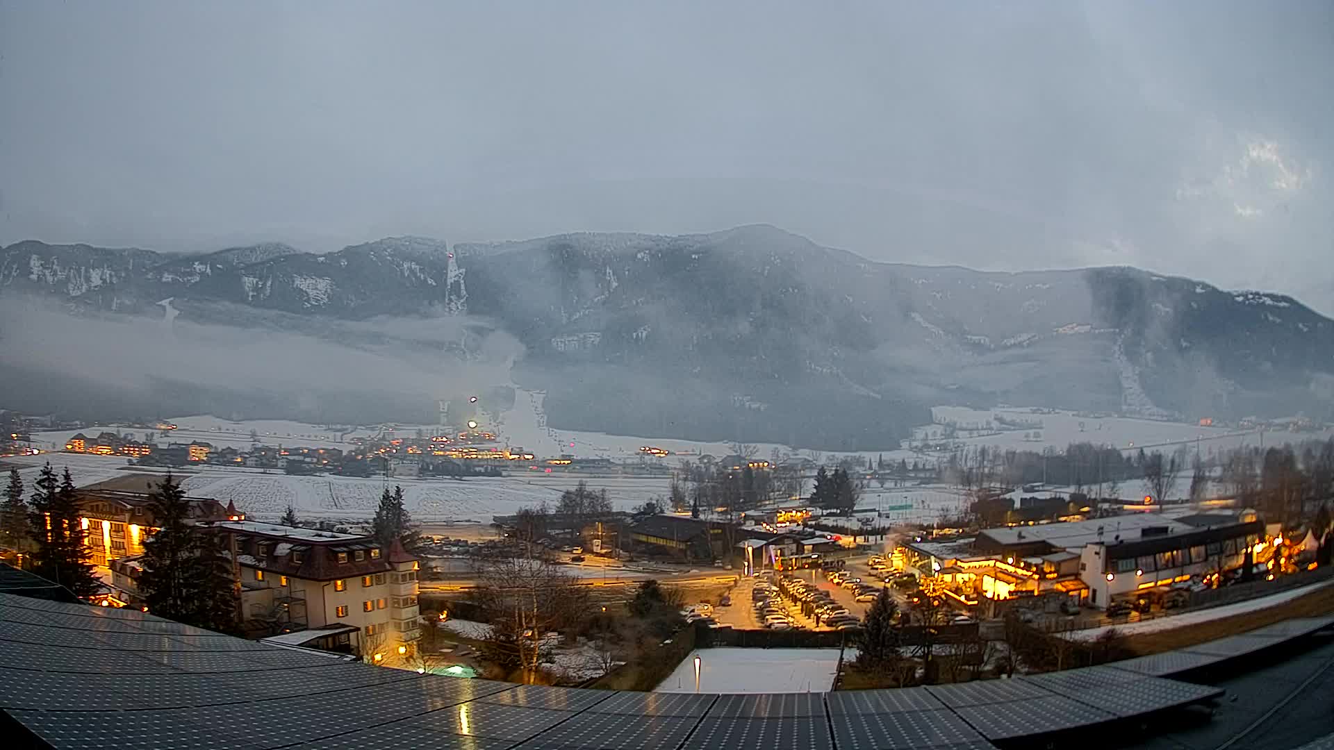
<path fill-rule="evenodd" d="M 52 747 L 972 750 L 1218 694 L 1109 666 L 830 694 L 520 686 L 0 594 L 0 710 Z"/>

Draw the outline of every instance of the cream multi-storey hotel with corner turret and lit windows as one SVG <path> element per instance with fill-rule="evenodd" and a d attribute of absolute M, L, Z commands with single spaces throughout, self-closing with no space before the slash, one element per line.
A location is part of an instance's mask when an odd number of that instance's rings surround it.
<path fill-rule="evenodd" d="M 336 650 L 407 655 L 422 637 L 418 559 L 394 542 L 255 520 L 223 520 L 252 635 L 319 630 Z"/>

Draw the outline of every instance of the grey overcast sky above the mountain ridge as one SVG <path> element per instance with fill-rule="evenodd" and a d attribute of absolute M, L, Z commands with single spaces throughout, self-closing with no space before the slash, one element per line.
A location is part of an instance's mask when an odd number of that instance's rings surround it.
<path fill-rule="evenodd" d="M 0 0 L 0 243 L 771 223 L 1334 314 L 1334 3 Z"/>

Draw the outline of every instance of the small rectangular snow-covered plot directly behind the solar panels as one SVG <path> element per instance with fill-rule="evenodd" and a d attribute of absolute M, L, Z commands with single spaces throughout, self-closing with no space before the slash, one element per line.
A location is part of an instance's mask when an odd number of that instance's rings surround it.
<path fill-rule="evenodd" d="M 838 673 L 838 649 L 696 649 L 658 693 L 827 693 Z"/>

